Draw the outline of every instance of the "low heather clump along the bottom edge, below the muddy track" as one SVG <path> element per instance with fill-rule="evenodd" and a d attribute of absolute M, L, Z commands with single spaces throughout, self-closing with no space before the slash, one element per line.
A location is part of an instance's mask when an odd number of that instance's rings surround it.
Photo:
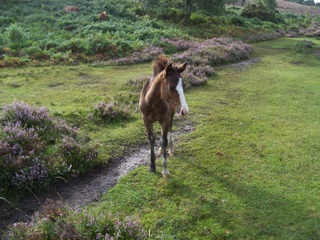
<path fill-rule="evenodd" d="M 147 239 L 141 223 L 106 211 L 98 216 L 89 212 L 73 213 L 59 202 L 48 200 L 28 223 L 8 226 L 5 239 Z"/>

